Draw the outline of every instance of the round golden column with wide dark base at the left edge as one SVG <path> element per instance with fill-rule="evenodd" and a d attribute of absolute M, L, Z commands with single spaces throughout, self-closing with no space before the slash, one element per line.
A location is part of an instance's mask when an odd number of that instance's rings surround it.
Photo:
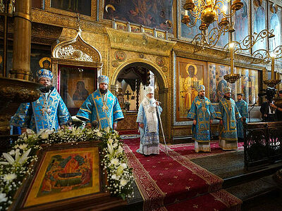
<path fill-rule="evenodd" d="M 13 36 L 13 79 L 0 77 L 0 150 L 8 148 L 11 117 L 20 103 L 39 98 L 40 84 L 30 82 L 31 0 L 16 1 Z M 5 32 L 6 33 L 6 32 Z M 5 52 L 4 52 L 5 53 Z"/>

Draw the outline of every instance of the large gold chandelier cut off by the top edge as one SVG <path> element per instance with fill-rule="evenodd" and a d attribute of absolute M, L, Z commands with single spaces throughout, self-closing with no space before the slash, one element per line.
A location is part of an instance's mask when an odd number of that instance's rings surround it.
<path fill-rule="evenodd" d="M 236 11 L 243 7 L 243 3 L 240 0 L 235 0 L 228 10 L 228 5 L 230 5 L 228 4 L 229 2 L 230 0 L 185 1 L 183 6 L 185 15 L 181 22 L 188 27 L 194 27 L 197 21 L 201 21 L 199 29 L 202 33 L 197 34 L 192 43 L 202 47 L 212 47 L 219 41 L 221 34 L 235 32 L 233 27 L 234 23 L 231 22 L 231 17 L 235 15 Z M 230 13 L 228 13 L 228 11 L 230 11 Z M 188 15 L 188 13 L 190 15 Z M 217 23 L 217 27 L 214 27 L 208 34 L 206 34 L 205 31 L 208 29 L 209 25 L 214 22 Z"/>

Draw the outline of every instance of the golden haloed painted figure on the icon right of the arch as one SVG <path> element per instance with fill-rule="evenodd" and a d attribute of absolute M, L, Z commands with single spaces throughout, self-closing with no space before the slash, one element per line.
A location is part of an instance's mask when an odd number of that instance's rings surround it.
<path fill-rule="evenodd" d="M 188 77 L 185 78 L 183 83 L 183 90 L 185 91 L 185 100 L 184 100 L 184 108 L 189 110 L 192 105 L 192 101 L 194 101 L 197 96 L 197 89 L 199 85 L 203 84 L 202 79 L 197 78 L 197 66 L 194 64 L 186 65 L 186 72 L 188 73 Z"/>

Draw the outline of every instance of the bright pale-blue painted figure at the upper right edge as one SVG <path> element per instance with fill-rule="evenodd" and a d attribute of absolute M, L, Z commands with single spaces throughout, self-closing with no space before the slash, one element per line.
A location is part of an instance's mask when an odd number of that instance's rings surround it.
<path fill-rule="evenodd" d="M 269 6 L 270 25 L 269 30 L 274 30 L 275 37 L 269 39 L 270 49 L 274 50 L 277 46 L 281 45 L 281 9 L 277 4 Z"/>

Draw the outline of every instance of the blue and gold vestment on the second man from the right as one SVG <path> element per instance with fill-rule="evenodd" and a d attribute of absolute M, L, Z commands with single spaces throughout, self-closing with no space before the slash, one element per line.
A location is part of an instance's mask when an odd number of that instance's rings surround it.
<path fill-rule="evenodd" d="M 219 111 L 216 112 L 216 115 L 219 119 L 223 120 L 223 126 L 220 125 L 219 129 L 219 139 L 233 141 L 237 148 L 236 120 L 240 119 L 241 115 L 235 101 L 232 98 L 230 100 L 222 98 L 219 101 Z M 235 147 L 228 149 L 235 149 Z"/>

